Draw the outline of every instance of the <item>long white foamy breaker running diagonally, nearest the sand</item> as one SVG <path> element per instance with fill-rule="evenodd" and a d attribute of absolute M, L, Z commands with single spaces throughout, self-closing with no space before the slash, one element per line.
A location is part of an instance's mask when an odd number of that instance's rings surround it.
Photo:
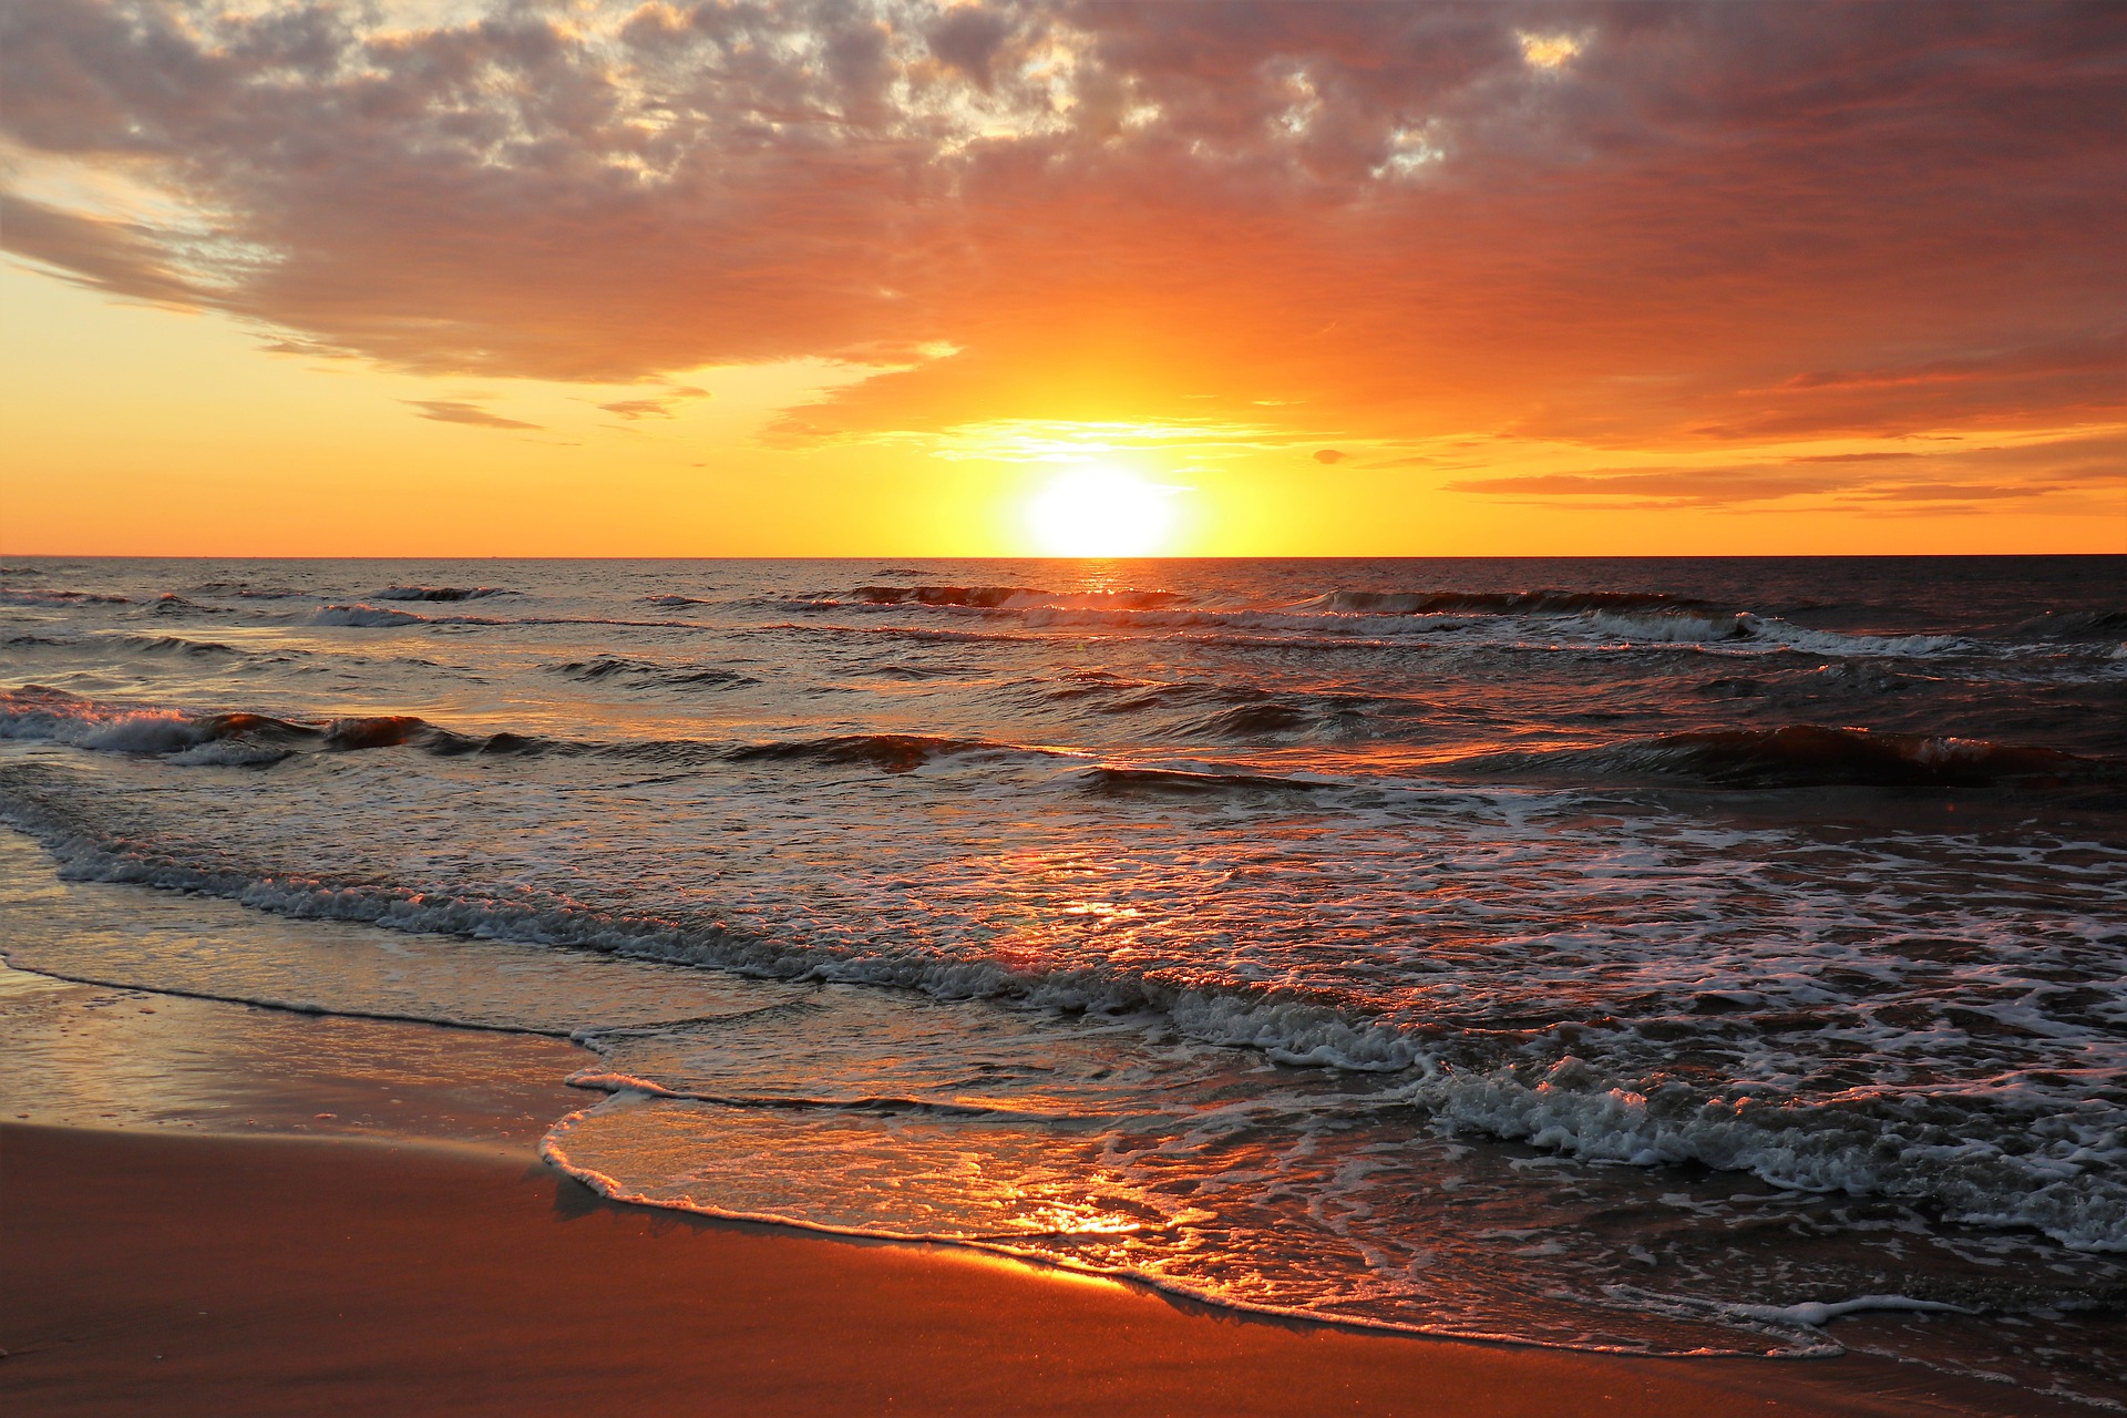
<path fill-rule="evenodd" d="M 1151 778 L 1134 770 L 1132 780 Z M 1383 1105 L 1419 1110 L 1448 1131 L 1521 1140 L 1587 1161 L 1697 1163 L 1787 1188 L 1902 1197 L 1940 1208 L 1953 1220 L 2033 1227 L 2076 1250 L 2127 1250 L 2127 1186 L 2118 1182 L 2118 1137 L 2108 1133 L 2116 1131 L 2116 1114 L 2080 1105 L 2082 1095 L 2055 1074 L 1802 1099 L 1759 1084 L 1723 1093 L 1674 1074 L 1606 1069 L 1574 1054 L 1497 1067 L 1466 1059 L 1466 1035 L 1444 1020 L 1368 1018 L 1278 984 L 1176 982 L 1115 963 L 1042 972 L 883 940 L 798 946 L 730 929 L 700 912 L 602 910 L 523 887 L 479 891 L 253 874 L 185 861 L 143 840 L 102 838 L 36 793 L 9 793 L 0 808 L 45 842 L 70 880 L 196 891 L 298 918 L 576 946 L 757 978 L 883 984 L 1036 1010 L 1146 1012 L 1172 1020 L 1185 1037 L 1253 1048 L 1278 1063 L 1380 1074 Z M 1982 1105 L 1993 1110 L 1993 1127 L 1984 1131 L 1974 1127 L 1974 1110 Z"/>

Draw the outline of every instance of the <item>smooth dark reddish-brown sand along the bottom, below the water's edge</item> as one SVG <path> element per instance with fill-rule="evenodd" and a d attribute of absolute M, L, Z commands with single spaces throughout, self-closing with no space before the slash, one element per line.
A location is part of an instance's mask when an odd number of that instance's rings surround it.
<path fill-rule="evenodd" d="M 2087 1414 L 1848 1354 L 1287 1324 L 608 1203 L 521 1148 L 0 1127 L 0 1409 Z"/>

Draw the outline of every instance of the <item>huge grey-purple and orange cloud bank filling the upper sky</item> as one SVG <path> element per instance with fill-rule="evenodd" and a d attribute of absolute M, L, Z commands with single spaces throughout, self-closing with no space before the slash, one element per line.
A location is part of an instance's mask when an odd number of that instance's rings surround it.
<path fill-rule="evenodd" d="M 785 438 L 2042 429 L 2121 400 L 2123 53 L 2036 0 L 17 0 L 0 142 L 160 200 L 0 240 L 425 374 L 878 370 Z"/>

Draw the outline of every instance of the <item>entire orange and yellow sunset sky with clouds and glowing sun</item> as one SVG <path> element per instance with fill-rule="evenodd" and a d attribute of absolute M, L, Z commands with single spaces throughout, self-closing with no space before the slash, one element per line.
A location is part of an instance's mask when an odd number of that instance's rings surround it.
<path fill-rule="evenodd" d="M 2127 6 L 0 6 L 0 555 L 2127 551 Z"/>

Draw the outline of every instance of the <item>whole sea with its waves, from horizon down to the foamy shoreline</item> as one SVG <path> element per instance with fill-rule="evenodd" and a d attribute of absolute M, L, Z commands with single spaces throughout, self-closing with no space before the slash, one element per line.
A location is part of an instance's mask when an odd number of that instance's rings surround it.
<path fill-rule="evenodd" d="M 2127 1399 L 2127 559 L 0 587 L 43 870 L 387 927 L 13 965 L 572 1037 L 615 1197 Z"/>

